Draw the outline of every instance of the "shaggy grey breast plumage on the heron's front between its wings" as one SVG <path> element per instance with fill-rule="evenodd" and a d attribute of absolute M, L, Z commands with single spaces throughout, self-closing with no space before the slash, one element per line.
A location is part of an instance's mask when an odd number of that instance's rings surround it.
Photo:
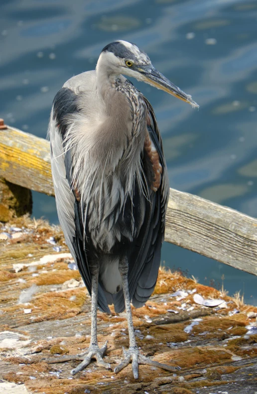
<path fill-rule="evenodd" d="M 104 111 L 96 113 L 94 107 L 94 121 L 85 107 L 87 94 L 81 95 L 81 111 L 70 116 L 65 135 L 65 149 L 73 157 L 71 182 L 80 200 L 81 217 L 93 245 L 105 253 L 123 237 L 128 241 L 136 237 L 144 218 L 144 199 L 138 199 L 139 206 L 134 207 L 133 195 L 135 189 L 137 194 L 148 194 L 141 166 L 145 102 L 123 77 L 108 94 L 111 97 Z M 92 132 L 96 118 L 97 128 Z M 128 200 L 131 206 L 124 213 Z"/>

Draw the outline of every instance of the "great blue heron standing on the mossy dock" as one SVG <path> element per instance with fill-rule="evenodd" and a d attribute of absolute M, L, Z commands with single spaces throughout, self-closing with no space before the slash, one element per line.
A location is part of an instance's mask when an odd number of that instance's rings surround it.
<path fill-rule="evenodd" d="M 92 296 L 88 352 L 50 359 L 103 360 L 97 342 L 97 306 L 110 313 L 126 308 L 129 349 L 115 368 L 132 362 L 169 371 L 139 353 L 130 301 L 138 308 L 151 296 L 160 265 L 169 196 L 162 140 L 148 100 L 122 74 L 198 107 L 162 74 L 135 44 L 115 41 L 101 52 L 96 70 L 68 80 L 54 98 L 49 124 L 57 211 L 66 243 Z"/>

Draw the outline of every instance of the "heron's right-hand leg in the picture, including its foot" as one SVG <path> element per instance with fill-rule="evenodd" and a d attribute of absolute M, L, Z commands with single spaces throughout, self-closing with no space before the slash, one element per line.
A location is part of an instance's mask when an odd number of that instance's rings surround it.
<path fill-rule="evenodd" d="M 115 368 L 114 372 L 117 374 L 122 369 L 127 367 L 127 365 L 130 362 L 132 363 L 132 372 L 134 379 L 138 379 L 138 364 L 151 365 L 171 372 L 177 371 L 179 367 L 171 367 L 166 364 L 161 364 L 158 363 L 157 361 L 152 361 L 148 357 L 145 357 L 140 354 L 135 341 L 132 313 L 130 307 L 130 296 L 128 291 L 128 260 L 127 259 L 123 259 L 120 261 L 119 271 L 122 277 L 123 293 L 124 293 L 125 307 L 127 312 L 129 348 L 128 350 L 125 350 L 123 348 L 124 360 L 121 362 L 121 364 L 118 365 L 118 367 Z"/>

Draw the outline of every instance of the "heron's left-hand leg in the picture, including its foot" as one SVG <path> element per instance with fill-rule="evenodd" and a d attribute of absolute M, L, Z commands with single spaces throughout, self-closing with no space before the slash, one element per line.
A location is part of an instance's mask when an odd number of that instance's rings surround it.
<path fill-rule="evenodd" d="M 96 363 L 99 367 L 104 367 L 106 369 L 111 369 L 110 364 L 105 363 L 103 356 L 107 349 L 107 342 L 100 349 L 97 342 L 97 292 L 98 292 L 98 275 L 99 275 L 99 264 L 90 267 L 91 277 L 92 277 L 92 303 L 91 303 L 91 339 L 89 348 L 85 353 L 80 353 L 76 355 L 66 355 L 58 358 L 45 359 L 44 361 L 48 364 L 63 363 L 70 360 L 83 360 L 76 368 L 71 370 L 71 375 L 77 374 L 86 368 L 91 359 L 96 359 Z"/>

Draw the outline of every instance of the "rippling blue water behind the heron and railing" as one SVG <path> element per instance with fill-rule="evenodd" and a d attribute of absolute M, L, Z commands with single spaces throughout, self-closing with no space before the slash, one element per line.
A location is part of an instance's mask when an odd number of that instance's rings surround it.
<path fill-rule="evenodd" d="M 200 104 L 133 81 L 154 107 L 170 186 L 256 217 L 257 1 L 1 0 L 0 117 L 45 137 L 56 92 L 114 39 L 136 43 Z M 54 198 L 33 201 L 35 217 L 58 222 Z M 162 259 L 257 304 L 250 274 L 170 244 Z"/>

